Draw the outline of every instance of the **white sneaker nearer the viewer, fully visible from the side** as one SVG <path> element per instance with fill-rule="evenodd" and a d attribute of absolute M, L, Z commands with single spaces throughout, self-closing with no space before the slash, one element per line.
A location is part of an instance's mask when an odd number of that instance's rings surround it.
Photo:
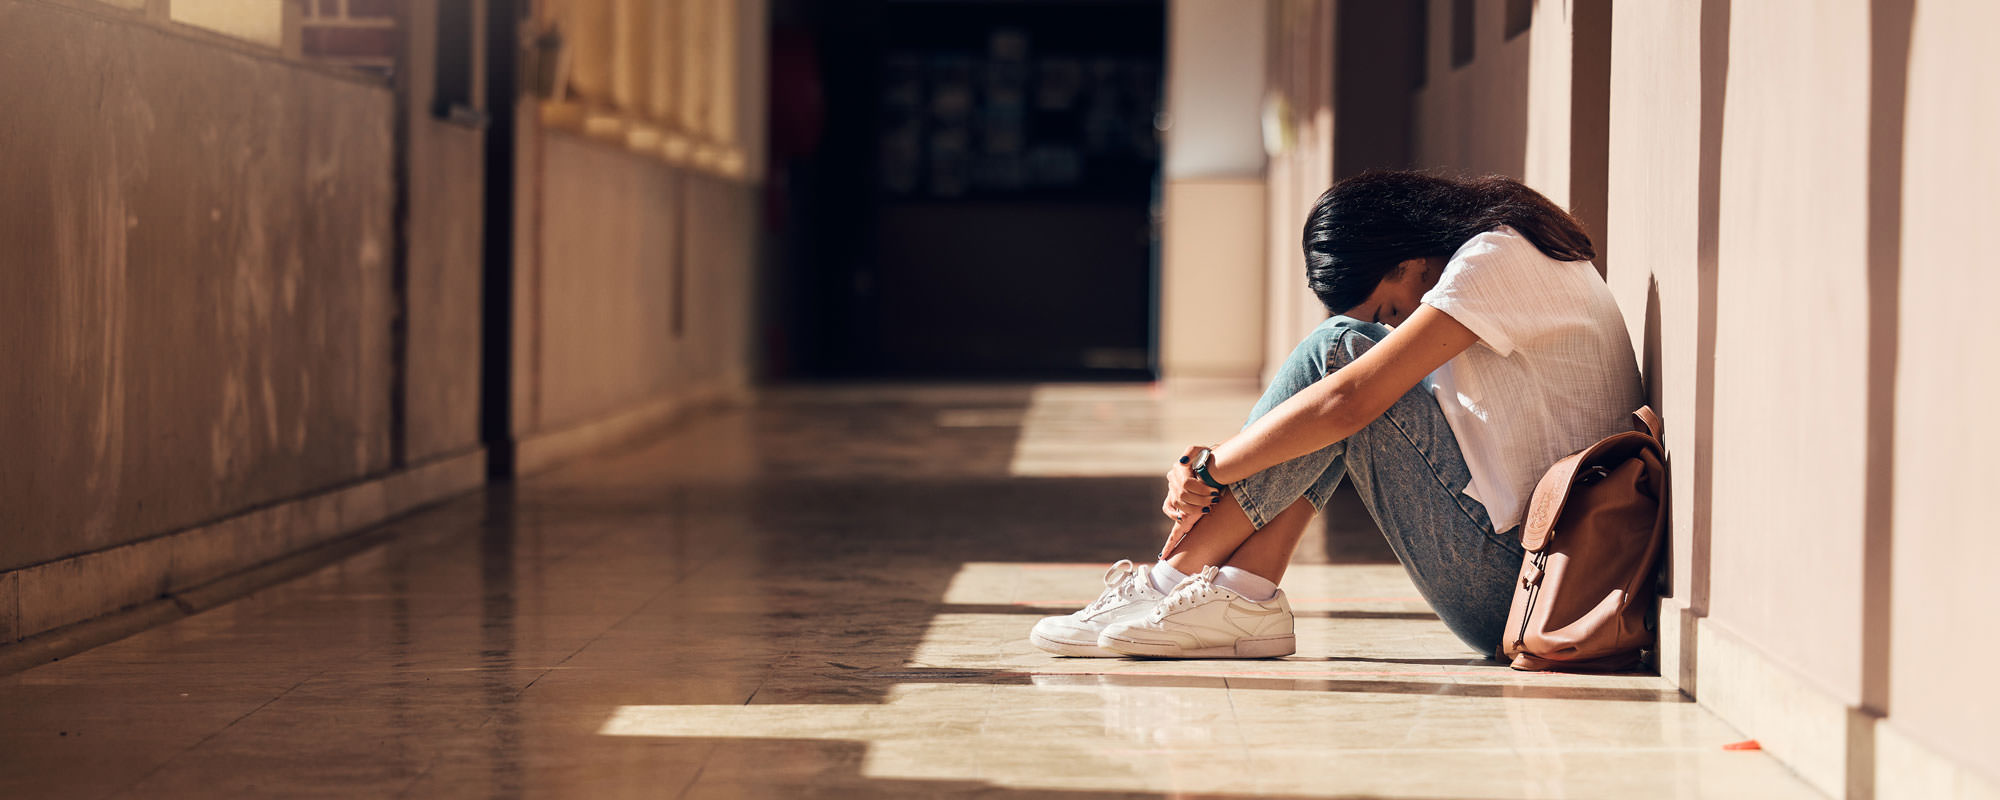
<path fill-rule="evenodd" d="M 1274 658 L 1298 652 L 1284 590 L 1254 602 L 1216 586 L 1214 566 L 1182 580 L 1146 616 L 1104 626 L 1098 646 L 1144 658 Z"/>

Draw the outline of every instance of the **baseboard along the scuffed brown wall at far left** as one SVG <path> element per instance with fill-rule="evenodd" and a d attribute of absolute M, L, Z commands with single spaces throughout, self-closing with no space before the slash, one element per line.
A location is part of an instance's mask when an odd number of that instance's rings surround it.
<path fill-rule="evenodd" d="M 10 570 L 0 574 L 0 642 L 34 640 L 42 648 L 50 642 L 102 644 L 106 632 L 124 630 L 112 636 L 120 638 L 158 624 L 156 616 L 164 614 L 160 604 L 184 592 L 320 548 L 484 484 L 486 450 L 478 448 L 142 542 Z M 68 630 L 108 614 L 122 614 L 126 620 Z M 136 628 L 126 630 L 130 624 Z M 64 646 L 50 652 L 60 650 Z"/>

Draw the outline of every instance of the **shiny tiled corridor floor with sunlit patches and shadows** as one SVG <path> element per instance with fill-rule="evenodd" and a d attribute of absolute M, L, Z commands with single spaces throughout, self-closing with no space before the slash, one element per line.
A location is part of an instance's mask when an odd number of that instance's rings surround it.
<path fill-rule="evenodd" d="M 1658 678 L 1466 652 L 1352 502 L 1294 658 L 1030 648 L 1248 402 L 774 392 L 0 678 L 0 798 L 1812 796 Z"/>

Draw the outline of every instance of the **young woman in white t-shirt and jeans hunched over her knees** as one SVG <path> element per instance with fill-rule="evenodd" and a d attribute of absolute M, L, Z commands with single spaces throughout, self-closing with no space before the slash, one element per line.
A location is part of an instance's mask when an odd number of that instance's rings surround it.
<path fill-rule="evenodd" d="M 1320 196 L 1304 250 L 1306 284 L 1334 316 L 1242 432 L 1168 470 L 1160 560 L 1114 564 L 1090 606 L 1036 622 L 1038 648 L 1296 652 L 1278 582 L 1306 522 L 1352 480 L 1438 618 L 1494 654 L 1536 480 L 1644 402 L 1590 236 L 1510 178 L 1370 172 Z"/>

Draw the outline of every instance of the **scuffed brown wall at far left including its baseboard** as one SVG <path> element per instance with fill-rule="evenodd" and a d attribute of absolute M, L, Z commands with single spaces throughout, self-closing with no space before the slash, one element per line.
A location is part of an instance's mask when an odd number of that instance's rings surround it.
<path fill-rule="evenodd" d="M 478 300 L 398 294 L 394 88 L 124 6 L 0 0 L 0 644 L 484 480 L 476 376 L 398 402 Z"/>

